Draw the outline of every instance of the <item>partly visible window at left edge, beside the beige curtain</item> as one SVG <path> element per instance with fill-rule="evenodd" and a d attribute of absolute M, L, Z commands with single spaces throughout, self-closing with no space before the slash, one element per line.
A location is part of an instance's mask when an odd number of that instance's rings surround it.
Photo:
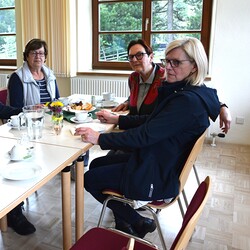
<path fill-rule="evenodd" d="M 0 1 L 0 65 L 16 65 L 15 0 Z"/>

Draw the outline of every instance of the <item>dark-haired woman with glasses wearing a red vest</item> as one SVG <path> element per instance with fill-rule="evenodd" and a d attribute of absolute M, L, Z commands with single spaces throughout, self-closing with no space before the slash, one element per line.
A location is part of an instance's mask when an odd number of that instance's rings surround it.
<path fill-rule="evenodd" d="M 161 60 L 162 66 L 153 63 L 153 51 L 145 41 L 138 39 L 132 40 L 127 48 L 128 60 L 134 72 L 129 76 L 128 84 L 130 88 L 130 97 L 124 103 L 121 103 L 112 111 L 129 110 L 130 115 L 148 115 L 151 114 L 157 100 L 158 90 L 165 80 L 165 67 L 171 65 L 172 68 L 181 68 L 185 60 L 168 58 Z M 221 103 L 220 109 L 220 128 L 227 133 L 231 124 L 230 111 L 224 103 Z M 110 151 L 110 154 L 114 151 Z"/>

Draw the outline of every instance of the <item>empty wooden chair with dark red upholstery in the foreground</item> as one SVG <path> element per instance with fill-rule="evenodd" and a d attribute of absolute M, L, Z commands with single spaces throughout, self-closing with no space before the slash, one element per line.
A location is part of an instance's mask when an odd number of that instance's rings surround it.
<path fill-rule="evenodd" d="M 171 245 L 170 250 L 182 250 L 188 245 L 188 242 L 194 232 L 195 226 L 201 216 L 204 206 L 207 202 L 211 189 L 211 180 L 206 179 L 197 188 L 184 215 L 181 228 Z M 158 249 L 152 243 L 131 237 L 126 233 L 114 229 L 95 227 L 85 233 L 72 246 L 71 250 L 153 250 Z"/>

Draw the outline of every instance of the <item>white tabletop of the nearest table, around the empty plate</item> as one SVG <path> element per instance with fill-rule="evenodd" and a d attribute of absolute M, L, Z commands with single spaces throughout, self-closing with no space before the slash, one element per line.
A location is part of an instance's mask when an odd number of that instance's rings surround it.
<path fill-rule="evenodd" d="M 9 159 L 8 151 L 15 145 L 16 140 L 0 138 L 0 141 L 1 145 L 4 145 L 0 154 L 0 218 L 70 165 L 79 154 L 78 149 L 36 143 L 32 157 L 13 162 Z M 1 172 L 4 168 L 11 167 L 13 163 L 20 164 L 20 167 L 34 163 L 42 168 L 42 172 L 39 176 L 28 180 L 15 181 L 3 178 Z"/>

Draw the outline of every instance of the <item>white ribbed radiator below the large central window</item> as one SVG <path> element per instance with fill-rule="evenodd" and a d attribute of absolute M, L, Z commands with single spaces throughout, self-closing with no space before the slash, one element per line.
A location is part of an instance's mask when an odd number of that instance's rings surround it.
<path fill-rule="evenodd" d="M 71 94 L 102 95 L 103 92 L 114 93 L 116 97 L 129 96 L 128 80 L 71 78 Z"/>

